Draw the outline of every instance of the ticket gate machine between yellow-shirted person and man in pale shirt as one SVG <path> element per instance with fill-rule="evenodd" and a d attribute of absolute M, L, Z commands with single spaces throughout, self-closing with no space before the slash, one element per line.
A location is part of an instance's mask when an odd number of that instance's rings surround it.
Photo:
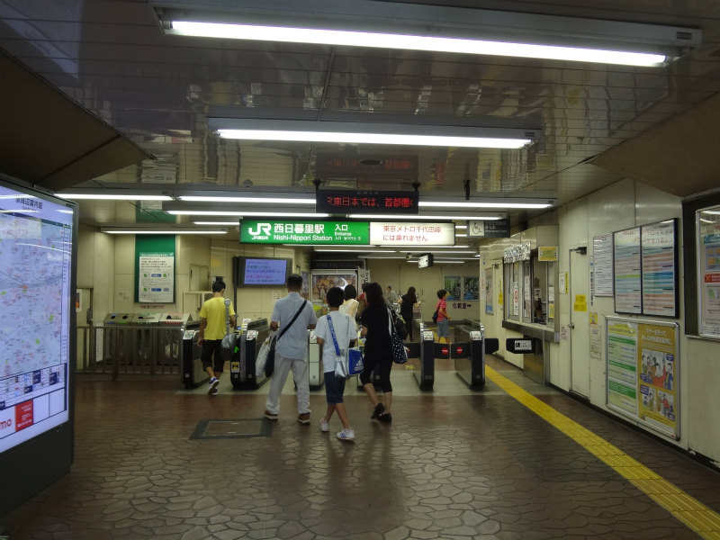
<path fill-rule="evenodd" d="M 230 352 L 230 382 L 235 390 L 257 390 L 268 381 L 265 374 L 256 375 L 257 353 L 270 335 L 267 319 L 243 323 Z"/>

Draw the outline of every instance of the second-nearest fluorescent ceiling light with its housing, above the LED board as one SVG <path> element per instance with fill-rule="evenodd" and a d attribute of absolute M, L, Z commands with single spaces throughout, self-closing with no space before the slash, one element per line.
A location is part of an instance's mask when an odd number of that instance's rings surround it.
<path fill-rule="evenodd" d="M 210 117 L 208 125 L 224 139 L 464 148 L 522 148 L 542 135 L 540 130 L 359 121 Z"/>

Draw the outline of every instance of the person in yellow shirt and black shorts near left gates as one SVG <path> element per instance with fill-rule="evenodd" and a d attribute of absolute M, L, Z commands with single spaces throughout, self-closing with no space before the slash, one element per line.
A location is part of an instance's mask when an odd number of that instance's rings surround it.
<path fill-rule="evenodd" d="M 229 308 L 230 328 L 235 328 L 235 311 L 232 309 L 232 302 L 222 298 L 225 293 L 225 282 L 218 280 L 212 284 L 212 298 L 202 303 L 200 309 L 200 333 L 197 344 L 202 347 L 200 359 L 202 367 L 210 375 L 208 393 L 211 396 L 218 394 L 220 375 L 225 365 L 222 357 L 222 338 L 225 337 L 228 309 Z M 214 362 L 213 362 L 214 360 Z"/>

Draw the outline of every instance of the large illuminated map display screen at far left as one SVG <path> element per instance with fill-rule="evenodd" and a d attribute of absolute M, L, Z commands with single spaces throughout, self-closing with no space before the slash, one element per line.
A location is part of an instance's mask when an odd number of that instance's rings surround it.
<path fill-rule="evenodd" d="M 69 420 L 73 206 L 0 184 L 0 453 Z"/>

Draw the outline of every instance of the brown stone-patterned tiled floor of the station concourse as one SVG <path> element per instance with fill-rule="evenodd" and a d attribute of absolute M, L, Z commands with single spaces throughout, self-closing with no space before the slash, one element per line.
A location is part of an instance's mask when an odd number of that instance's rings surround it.
<path fill-rule="evenodd" d="M 720 511 L 720 474 L 488 363 Z M 320 432 L 323 391 L 311 395 L 312 425 L 296 422 L 292 383 L 271 424 L 267 385 L 233 392 L 226 378 L 210 397 L 175 377 L 79 377 L 71 473 L 2 524 L 12 540 L 703 537 L 494 383 L 472 392 L 437 361 L 434 392 L 419 392 L 399 367 L 391 425 L 371 420 L 365 394 L 348 384 L 353 443 L 333 437 L 337 418 Z M 211 438 L 191 438 L 203 420 Z M 241 437 L 213 437 L 232 432 Z"/>

